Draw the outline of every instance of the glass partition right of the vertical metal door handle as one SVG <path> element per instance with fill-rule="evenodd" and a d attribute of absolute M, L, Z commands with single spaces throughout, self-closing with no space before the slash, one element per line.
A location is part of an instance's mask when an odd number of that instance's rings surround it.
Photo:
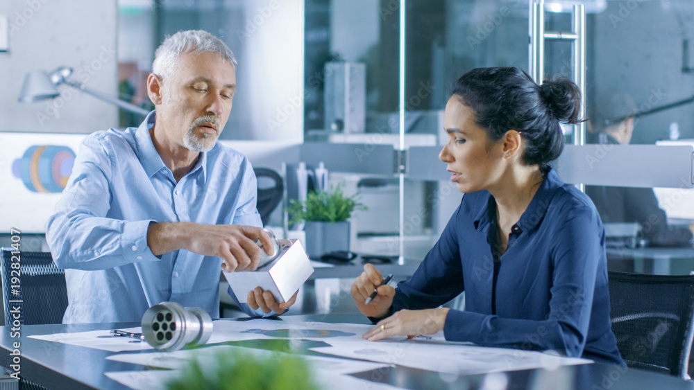
<path fill-rule="evenodd" d="M 693 15 L 692 1 L 607 1 L 600 12 L 588 15 L 591 132 L 586 141 L 602 143 L 604 150 L 618 144 L 694 145 Z M 694 254 L 670 263 L 673 251 L 691 248 L 692 190 L 586 186 L 586 193 L 609 225 L 608 240 L 624 248 L 608 251 L 615 269 L 672 274 L 694 269 L 691 261 L 682 261 Z M 623 223 L 636 227 L 627 242 L 620 242 L 623 231 L 613 229 Z M 655 252 L 643 256 L 638 251 Z"/>

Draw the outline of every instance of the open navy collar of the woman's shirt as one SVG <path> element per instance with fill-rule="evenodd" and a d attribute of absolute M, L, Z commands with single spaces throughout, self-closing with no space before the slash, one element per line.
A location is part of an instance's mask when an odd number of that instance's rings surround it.
<path fill-rule="evenodd" d="M 555 196 L 557 190 L 564 185 L 564 181 L 561 181 L 557 172 L 554 168 L 545 175 L 545 179 L 540 184 L 540 188 L 537 190 L 535 195 L 532 197 L 530 204 L 527 205 L 527 209 L 521 215 L 521 219 L 518 220 L 518 227 L 522 231 L 530 233 L 531 231 L 539 227 L 540 222 L 542 222 L 547 213 L 547 209 L 552 202 L 552 197 Z M 494 197 L 487 193 L 487 202 L 477 213 L 475 217 L 475 229 L 477 231 L 486 231 L 487 227 L 491 221 L 496 219 L 496 203 L 494 203 Z M 492 215 L 493 214 L 493 215 Z"/>

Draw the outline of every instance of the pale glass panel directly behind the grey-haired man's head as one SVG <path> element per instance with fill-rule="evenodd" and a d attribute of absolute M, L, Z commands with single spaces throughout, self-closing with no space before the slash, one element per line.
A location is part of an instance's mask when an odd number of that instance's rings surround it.
<path fill-rule="evenodd" d="M 142 75 L 165 36 L 208 30 L 238 60 L 234 108 L 220 139 L 301 143 L 303 1 L 119 0 L 119 10 L 121 98 L 139 104 Z M 121 123 L 133 121 L 121 116 Z"/>

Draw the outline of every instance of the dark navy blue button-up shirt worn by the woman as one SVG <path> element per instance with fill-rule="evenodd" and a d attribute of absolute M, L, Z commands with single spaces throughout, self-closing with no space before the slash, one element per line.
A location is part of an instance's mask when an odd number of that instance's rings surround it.
<path fill-rule="evenodd" d="M 503 254 L 497 231 L 491 194 L 465 194 L 414 276 L 398 284 L 393 310 L 436 308 L 465 291 L 465 310 L 446 317 L 448 340 L 623 364 L 609 318 L 604 228 L 589 197 L 550 170 Z"/>

